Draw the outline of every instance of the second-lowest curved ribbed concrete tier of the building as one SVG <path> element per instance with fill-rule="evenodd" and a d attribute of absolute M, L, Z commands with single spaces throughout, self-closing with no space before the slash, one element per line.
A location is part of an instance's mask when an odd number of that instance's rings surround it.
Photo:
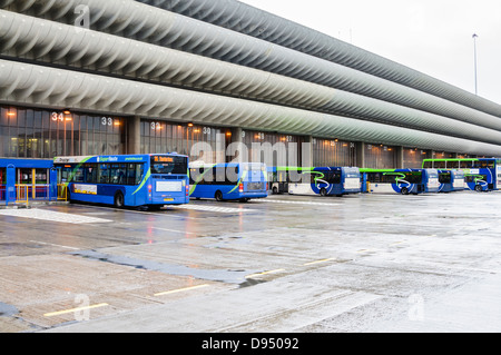
<path fill-rule="evenodd" d="M 76 32 L 72 26 L 9 11 L 0 10 L 0 19 L 2 53 L 501 144 L 501 121 L 488 115 L 485 125 L 493 129 L 107 33 Z"/>

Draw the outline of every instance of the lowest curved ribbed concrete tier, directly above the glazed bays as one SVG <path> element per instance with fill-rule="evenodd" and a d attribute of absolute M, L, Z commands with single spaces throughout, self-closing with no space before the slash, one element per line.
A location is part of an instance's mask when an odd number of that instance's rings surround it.
<path fill-rule="evenodd" d="M 4 102 L 107 115 L 177 119 L 284 134 L 337 137 L 445 151 L 501 155 L 501 147 L 461 138 L 125 79 L 0 60 Z"/>

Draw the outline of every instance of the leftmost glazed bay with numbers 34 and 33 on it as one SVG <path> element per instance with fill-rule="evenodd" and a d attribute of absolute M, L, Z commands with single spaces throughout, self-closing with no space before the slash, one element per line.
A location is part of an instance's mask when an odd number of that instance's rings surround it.
<path fill-rule="evenodd" d="M 0 157 L 118 155 L 127 151 L 126 119 L 1 107 Z"/>

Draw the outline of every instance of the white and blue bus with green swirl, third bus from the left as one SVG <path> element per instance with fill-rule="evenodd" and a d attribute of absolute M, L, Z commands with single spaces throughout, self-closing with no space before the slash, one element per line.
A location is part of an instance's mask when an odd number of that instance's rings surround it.
<path fill-rule="evenodd" d="M 301 180 L 294 183 L 294 178 L 288 177 L 289 195 L 320 195 L 320 196 L 343 196 L 361 193 L 360 169 L 354 167 L 314 167 L 314 168 L 291 168 L 292 171 L 301 172 Z"/>

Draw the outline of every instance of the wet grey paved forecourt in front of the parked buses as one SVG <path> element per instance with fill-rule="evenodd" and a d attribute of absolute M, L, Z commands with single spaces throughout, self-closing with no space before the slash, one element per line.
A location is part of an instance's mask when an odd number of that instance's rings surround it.
<path fill-rule="evenodd" d="M 0 209 L 0 332 L 499 332 L 501 193 Z"/>

